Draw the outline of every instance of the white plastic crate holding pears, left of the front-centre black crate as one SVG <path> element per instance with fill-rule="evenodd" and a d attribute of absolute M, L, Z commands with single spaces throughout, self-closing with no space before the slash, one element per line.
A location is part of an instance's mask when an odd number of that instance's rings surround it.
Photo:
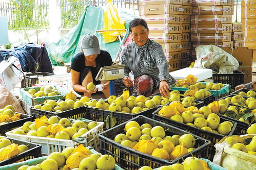
<path fill-rule="evenodd" d="M 86 142 L 85 147 L 93 147 L 96 151 L 99 151 L 99 133 L 103 132 L 103 122 L 97 122 L 98 125 L 93 129 L 89 130 L 82 136 L 85 137 L 88 141 Z M 22 129 L 19 127 L 17 129 Z M 67 147 L 74 147 L 79 143 L 76 143 L 73 140 L 65 140 L 65 139 L 55 139 L 55 138 L 48 138 L 48 137 L 37 137 L 37 136 L 28 136 L 28 135 L 19 135 L 13 134 L 12 132 L 16 129 L 6 132 L 7 137 L 11 137 L 14 139 L 19 139 L 22 141 L 31 141 L 33 143 L 38 143 L 42 145 L 42 155 L 49 155 L 52 152 L 62 152 Z M 90 137 L 92 136 L 92 137 Z"/>

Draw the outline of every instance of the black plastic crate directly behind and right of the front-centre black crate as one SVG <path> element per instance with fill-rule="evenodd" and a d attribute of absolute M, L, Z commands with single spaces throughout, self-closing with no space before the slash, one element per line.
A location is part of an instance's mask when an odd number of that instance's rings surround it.
<path fill-rule="evenodd" d="M 183 130 L 185 130 L 187 132 L 190 132 L 192 134 L 201 136 L 204 139 L 210 140 L 211 144 L 210 144 L 210 147 L 209 147 L 209 153 L 207 155 L 207 159 L 213 160 L 213 157 L 215 155 L 214 144 L 219 142 L 225 136 L 222 135 L 222 134 L 217 134 L 217 133 L 209 132 L 209 131 L 206 131 L 206 130 L 203 130 L 203 129 L 200 129 L 200 128 L 192 127 L 192 126 L 189 126 L 187 124 L 176 122 L 175 120 L 171 120 L 170 118 L 160 116 L 158 114 L 158 112 L 161 110 L 161 108 L 159 108 L 159 109 L 157 109 L 153 112 L 153 119 L 158 120 L 158 121 L 163 122 L 163 123 L 166 123 L 168 125 L 172 125 L 172 126 L 175 126 L 177 128 L 183 129 Z M 230 136 L 234 133 L 235 129 L 237 128 L 237 123 L 235 121 L 230 120 L 230 119 L 220 117 L 220 123 L 225 122 L 225 121 L 230 121 L 233 124 L 233 127 L 232 127 L 230 133 L 227 135 L 227 136 Z"/>

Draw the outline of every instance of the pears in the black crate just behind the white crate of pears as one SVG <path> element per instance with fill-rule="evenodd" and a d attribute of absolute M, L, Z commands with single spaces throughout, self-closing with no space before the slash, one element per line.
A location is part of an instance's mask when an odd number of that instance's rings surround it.
<path fill-rule="evenodd" d="M 44 111 L 56 112 L 61 113 L 66 110 L 78 108 L 87 105 L 90 99 L 87 96 L 83 96 L 81 99 L 66 99 L 63 100 L 46 100 L 43 105 L 35 105 L 35 109 L 40 109 Z"/>

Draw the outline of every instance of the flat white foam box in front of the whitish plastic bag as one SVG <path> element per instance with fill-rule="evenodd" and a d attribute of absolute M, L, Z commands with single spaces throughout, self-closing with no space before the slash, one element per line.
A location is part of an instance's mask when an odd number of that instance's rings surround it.
<path fill-rule="evenodd" d="M 197 82 L 209 79 L 212 77 L 212 69 L 207 68 L 183 68 L 169 73 L 174 79 L 186 79 L 188 75 L 193 75 L 198 78 Z"/>

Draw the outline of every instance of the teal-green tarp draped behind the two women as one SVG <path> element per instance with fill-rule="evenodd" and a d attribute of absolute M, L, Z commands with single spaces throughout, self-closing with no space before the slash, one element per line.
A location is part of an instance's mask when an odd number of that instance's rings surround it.
<path fill-rule="evenodd" d="M 128 28 L 130 21 L 133 19 L 133 15 L 122 11 L 119 14 L 126 21 L 125 28 Z M 94 34 L 96 30 L 102 30 L 103 26 L 104 9 L 88 6 L 81 17 L 81 20 L 66 36 L 60 39 L 57 43 L 51 42 L 46 45 L 52 64 L 60 65 L 71 62 L 72 57 L 81 52 L 80 39 L 85 34 Z M 112 59 L 114 59 L 120 47 L 120 41 L 117 40 L 111 43 L 103 43 L 102 35 L 97 33 L 96 36 L 99 39 L 101 49 L 108 51 Z M 126 34 L 126 37 L 127 36 L 128 32 Z"/>

